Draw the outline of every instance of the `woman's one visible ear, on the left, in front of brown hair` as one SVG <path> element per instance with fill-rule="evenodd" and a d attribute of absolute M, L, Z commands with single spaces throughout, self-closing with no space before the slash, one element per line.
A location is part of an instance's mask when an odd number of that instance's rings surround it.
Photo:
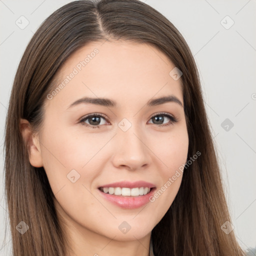
<path fill-rule="evenodd" d="M 34 167 L 43 166 L 38 135 L 32 133 L 31 126 L 26 119 L 20 119 L 19 128 L 23 140 L 26 143 L 27 148 L 29 149 L 30 164 Z"/>

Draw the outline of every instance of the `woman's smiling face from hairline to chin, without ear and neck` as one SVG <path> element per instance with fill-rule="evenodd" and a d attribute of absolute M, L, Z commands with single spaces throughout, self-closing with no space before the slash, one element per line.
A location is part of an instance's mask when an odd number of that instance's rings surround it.
<path fill-rule="evenodd" d="M 117 40 L 85 45 L 57 73 L 37 160 L 70 230 L 140 239 L 170 207 L 182 173 L 172 176 L 188 150 L 181 79 L 169 74 L 173 68 L 156 48 Z M 116 182 L 129 183 L 110 184 Z M 145 187 L 150 192 L 141 195 Z"/>

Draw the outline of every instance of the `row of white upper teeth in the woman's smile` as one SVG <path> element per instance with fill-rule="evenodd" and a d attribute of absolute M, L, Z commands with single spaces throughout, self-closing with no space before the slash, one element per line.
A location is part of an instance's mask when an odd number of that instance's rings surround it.
<path fill-rule="evenodd" d="M 122 196 L 138 196 L 149 193 L 149 187 L 100 187 L 100 190 L 104 193 L 122 195 Z"/>

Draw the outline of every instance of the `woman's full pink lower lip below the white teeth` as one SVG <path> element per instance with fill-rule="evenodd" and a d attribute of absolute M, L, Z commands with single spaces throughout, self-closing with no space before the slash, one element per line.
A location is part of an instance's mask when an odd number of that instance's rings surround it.
<path fill-rule="evenodd" d="M 120 196 L 115 194 L 104 193 L 100 189 L 98 190 L 106 200 L 112 202 L 113 204 L 125 209 L 135 209 L 148 203 L 149 197 L 153 195 L 155 189 L 155 187 L 151 188 L 149 193 L 138 196 Z"/>

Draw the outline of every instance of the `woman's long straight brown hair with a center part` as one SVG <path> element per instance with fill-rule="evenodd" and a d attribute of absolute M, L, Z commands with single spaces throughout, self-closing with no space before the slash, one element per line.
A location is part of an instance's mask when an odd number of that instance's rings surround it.
<path fill-rule="evenodd" d="M 19 120 L 27 119 L 33 131 L 38 130 L 46 95 L 63 62 L 88 42 L 112 38 L 157 47 L 182 71 L 187 159 L 201 153 L 184 168 L 173 203 L 152 230 L 155 256 L 244 255 L 233 231 L 226 234 L 221 229 L 231 220 L 196 64 L 184 38 L 167 18 L 139 0 L 79 0 L 57 9 L 40 25 L 14 78 L 4 141 L 13 256 L 66 256 L 68 246 L 45 171 L 29 163 Z M 16 228 L 20 221 L 29 227 L 23 234 Z"/>

